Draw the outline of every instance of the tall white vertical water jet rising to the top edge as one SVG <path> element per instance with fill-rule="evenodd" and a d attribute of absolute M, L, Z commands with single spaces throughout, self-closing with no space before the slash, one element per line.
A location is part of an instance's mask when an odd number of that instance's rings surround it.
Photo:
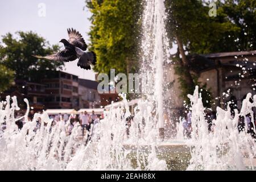
<path fill-rule="evenodd" d="M 143 26 L 142 26 L 142 73 L 151 72 L 154 84 L 154 97 L 156 102 L 156 114 L 158 115 L 158 127 L 160 135 L 163 137 L 164 129 L 164 105 L 163 88 L 164 74 L 163 63 L 168 61 L 169 41 L 167 38 L 165 20 L 166 9 L 164 0 L 147 0 L 144 6 Z M 145 74 L 146 75 L 146 74 Z M 151 78 L 148 78 L 151 79 Z"/>

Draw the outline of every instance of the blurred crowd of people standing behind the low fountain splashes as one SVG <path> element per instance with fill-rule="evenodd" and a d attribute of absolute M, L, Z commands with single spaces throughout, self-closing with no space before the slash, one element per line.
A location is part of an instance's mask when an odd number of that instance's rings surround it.
<path fill-rule="evenodd" d="M 34 110 L 31 110 L 28 114 L 28 121 L 32 121 L 34 118 Z M 42 114 L 39 112 L 39 114 Z M 16 113 L 15 118 L 22 118 L 24 113 Z M 234 115 L 232 115 L 234 117 Z M 91 114 L 88 114 L 86 111 L 80 114 L 51 114 L 49 115 L 49 118 L 53 120 L 52 126 L 56 125 L 57 122 L 64 121 L 65 124 L 68 124 L 67 134 L 70 135 L 72 133 L 73 127 L 78 123 L 81 126 L 81 135 L 84 137 L 84 134 L 90 131 L 92 126 L 95 126 L 98 122 L 100 122 L 100 119 L 104 118 L 104 115 L 95 114 L 94 111 L 92 111 Z M 205 112 L 205 121 L 208 125 L 208 131 L 214 132 L 214 120 L 216 120 L 216 111 L 206 111 Z M 129 128 L 131 126 L 131 122 L 133 121 L 133 117 L 127 117 L 126 118 L 126 127 L 127 127 L 127 135 L 129 135 Z M 41 119 L 37 119 L 37 125 L 36 129 L 40 128 L 41 126 Z M 24 118 L 19 119 L 15 122 L 18 126 L 18 129 L 22 129 L 24 125 Z M 180 123 L 183 127 L 183 135 L 185 138 L 191 138 L 191 132 L 193 130 L 192 128 L 192 113 L 189 111 L 186 116 L 181 119 Z M 249 133 L 253 138 L 256 139 L 256 133 L 255 133 L 255 126 L 256 126 L 256 114 L 253 113 L 253 117 L 251 117 L 251 114 L 247 114 L 245 116 L 240 115 L 238 117 L 237 121 L 237 128 L 238 131 L 245 131 Z M 180 126 L 181 127 L 181 126 Z M 2 125 L 1 130 L 4 130 L 5 126 Z M 35 130 L 36 130 L 35 129 Z M 89 132 L 88 132 L 89 133 Z"/>

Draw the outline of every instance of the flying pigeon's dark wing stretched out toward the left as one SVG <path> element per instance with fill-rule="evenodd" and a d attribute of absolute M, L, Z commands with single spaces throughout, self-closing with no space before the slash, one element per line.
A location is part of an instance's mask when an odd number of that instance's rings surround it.
<path fill-rule="evenodd" d="M 48 55 L 48 56 L 35 56 L 35 55 L 33 56 L 42 58 L 42 59 L 48 59 L 53 61 L 64 61 L 64 62 L 74 61 L 77 59 L 77 56 L 72 51 L 69 51 L 68 49 L 64 49 L 63 51 L 53 53 L 52 55 Z"/>

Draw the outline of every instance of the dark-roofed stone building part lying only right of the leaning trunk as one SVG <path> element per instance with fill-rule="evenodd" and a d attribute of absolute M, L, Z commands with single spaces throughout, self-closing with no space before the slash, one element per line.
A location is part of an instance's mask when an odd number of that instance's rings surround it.
<path fill-rule="evenodd" d="M 224 52 L 204 55 L 214 63 L 200 72 L 200 80 L 207 83 L 217 106 L 228 101 L 241 108 L 247 93 L 256 94 L 256 51 Z"/>

